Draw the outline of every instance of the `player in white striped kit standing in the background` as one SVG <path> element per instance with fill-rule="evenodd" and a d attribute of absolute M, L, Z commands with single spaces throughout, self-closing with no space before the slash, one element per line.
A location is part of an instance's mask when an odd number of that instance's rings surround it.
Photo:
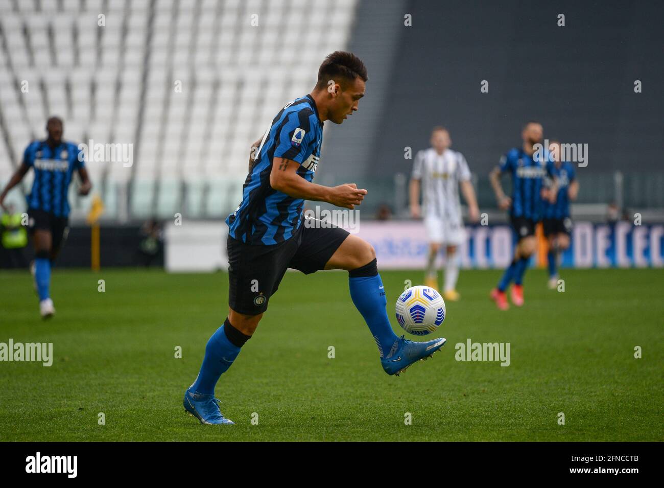
<path fill-rule="evenodd" d="M 436 258 L 440 248 L 446 246 L 445 284 L 443 297 L 457 301 L 456 291 L 459 277 L 457 246 L 465 240 L 459 186 L 468 204 L 468 215 L 475 222 L 479 218 L 477 199 L 470 181 L 470 169 L 463 154 L 452 151 L 450 133 L 445 127 L 434 127 L 429 149 L 418 151 L 410 179 L 410 214 L 420 218 L 424 214 L 424 226 L 429 239 L 429 255 L 426 264 L 424 283 L 438 288 L 438 268 Z M 420 208 L 420 187 L 423 187 Z"/>

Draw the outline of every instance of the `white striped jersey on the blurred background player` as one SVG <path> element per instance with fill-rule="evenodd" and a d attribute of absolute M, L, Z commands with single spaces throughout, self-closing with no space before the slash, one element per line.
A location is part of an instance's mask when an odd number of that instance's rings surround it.
<path fill-rule="evenodd" d="M 415 155 L 412 177 L 422 183 L 423 216 L 461 224 L 459 182 L 469 181 L 470 169 L 463 154 L 446 149 L 438 154 L 430 147 Z"/>

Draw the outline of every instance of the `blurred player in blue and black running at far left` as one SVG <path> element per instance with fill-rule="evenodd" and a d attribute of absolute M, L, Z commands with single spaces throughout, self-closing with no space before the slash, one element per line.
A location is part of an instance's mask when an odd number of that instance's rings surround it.
<path fill-rule="evenodd" d="M 25 149 L 23 162 L 0 194 L 0 205 L 5 197 L 18 185 L 29 169 L 35 171 L 33 188 L 27 196 L 29 231 L 35 246 L 35 285 L 39 295 L 39 310 L 42 317 L 55 313 L 50 298 L 50 268 L 60 252 L 68 230 L 69 202 L 67 192 L 74 171 L 82 181 L 78 193 L 88 195 L 92 183 L 83 161 L 82 150 L 76 144 L 62 139 L 63 123 L 58 117 L 46 122 L 48 137 L 44 141 L 33 141 Z"/>

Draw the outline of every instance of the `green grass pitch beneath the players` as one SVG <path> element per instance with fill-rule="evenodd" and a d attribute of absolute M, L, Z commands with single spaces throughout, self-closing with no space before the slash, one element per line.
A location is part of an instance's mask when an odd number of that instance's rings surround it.
<path fill-rule="evenodd" d="M 57 314 L 44 323 L 29 274 L 1 272 L 0 342 L 52 342 L 54 362 L 0 363 L 0 440 L 664 440 L 661 270 L 562 276 L 558 293 L 530 270 L 525 307 L 500 312 L 488 299 L 499 271 L 462 271 L 462 299 L 434 336 L 447 345 L 396 378 L 380 367 L 345 273 L 288 273 L 216 388 L 236 425 L 201 426 L 182 398 L 226 317 L 226 274 L 54 270 Z M 394 301 L 422 272 L 382 278 L 401 333 Z M 468 338 L 509 342 L 511 365 L 456 361 Z"/>

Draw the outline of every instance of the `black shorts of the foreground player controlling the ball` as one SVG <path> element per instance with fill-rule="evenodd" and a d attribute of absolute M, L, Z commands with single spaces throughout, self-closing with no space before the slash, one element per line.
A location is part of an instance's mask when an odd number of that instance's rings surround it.
<path fill-rule="evenodd" d="M 305 226 L 304 220 L 290 239 L 270 246 L 245 244 L 229 235 L 228 306 L 244 315 L 263 313 L 286 269 L 322 270 L 348 235 L 341 227 Z"/>

